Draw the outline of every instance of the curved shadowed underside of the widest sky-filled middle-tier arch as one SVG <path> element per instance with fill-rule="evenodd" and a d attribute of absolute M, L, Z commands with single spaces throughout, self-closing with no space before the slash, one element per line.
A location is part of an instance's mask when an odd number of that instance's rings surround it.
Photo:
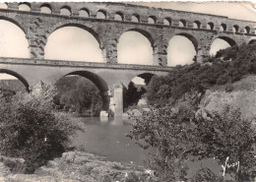
<path fill-rule="evenodd" d="M 100 40 L 98 34 L 96 33 L 96 30 L 93 30 L 87 26 L 81 25 L 81 24 L 76 24 L 76 23 L 65 23 L 63 25 L 54 25 L 52 28 L 50 28 L 50 30 L 47 31 L 46 33 L 46 38 L 48 39 L 48 37 L 52 34 L 52 32 L 54 32 L 55 30 L 60 30 L 61 28 L 67 28 L 67 27 L 75 27 L 75 28 L 80 28 L 82 30 L 87 30 L 89 31 L 91 34 L 94 35 L 94 37 L 96 38 L 96 41 L 99 44 L 99 47 L 102 47 L 102 41 Z"/>

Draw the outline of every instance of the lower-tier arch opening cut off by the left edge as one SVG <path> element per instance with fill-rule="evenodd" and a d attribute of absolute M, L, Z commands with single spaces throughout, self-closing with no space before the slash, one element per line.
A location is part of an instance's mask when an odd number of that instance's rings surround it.
<path fill-rule="evenodd" d="M 17 91 L 30 91 L 30 85 L 20 74 L 6 69 L 0 69 L 0 90 L 2 94 L 15 94 Z"/>

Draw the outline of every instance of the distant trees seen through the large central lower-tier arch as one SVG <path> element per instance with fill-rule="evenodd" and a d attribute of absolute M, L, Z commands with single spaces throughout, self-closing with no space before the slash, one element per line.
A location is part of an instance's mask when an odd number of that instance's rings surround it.
<path fill-rule="evenodd" d="M 54 103 L 59 109 L 84 113 L 87 110 L 98 115 L 101 107 L 101 95 L 95 84 L 79 76 L 63 77 L 56 83 L 58 94 Z"/>

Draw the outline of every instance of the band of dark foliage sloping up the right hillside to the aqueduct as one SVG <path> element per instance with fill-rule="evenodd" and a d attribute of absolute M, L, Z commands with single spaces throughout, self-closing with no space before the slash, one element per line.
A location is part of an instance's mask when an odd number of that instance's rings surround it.
<path fill-rule="evenodd" d="M 205 65 L 178 66 L 166 77 L 154 77 L 147 98 L 152 104 L 165 104 L 189 91 L 204 93 L 215 85 L 225 85 L 256 74 L 256 44 L 242 44 L 221 50 Z"/>

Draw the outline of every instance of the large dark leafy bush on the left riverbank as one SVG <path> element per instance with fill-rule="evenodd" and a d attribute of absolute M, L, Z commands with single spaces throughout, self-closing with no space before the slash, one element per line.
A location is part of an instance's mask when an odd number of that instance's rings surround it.
<path fill-rule="evenodd" d="M 23 157 L 27 173 L 61 155 L 78 125 L 67 114 L 52 109 L 54 88 L 18 92 L 9 101 L 0 99 L 0 153 Z"/>

